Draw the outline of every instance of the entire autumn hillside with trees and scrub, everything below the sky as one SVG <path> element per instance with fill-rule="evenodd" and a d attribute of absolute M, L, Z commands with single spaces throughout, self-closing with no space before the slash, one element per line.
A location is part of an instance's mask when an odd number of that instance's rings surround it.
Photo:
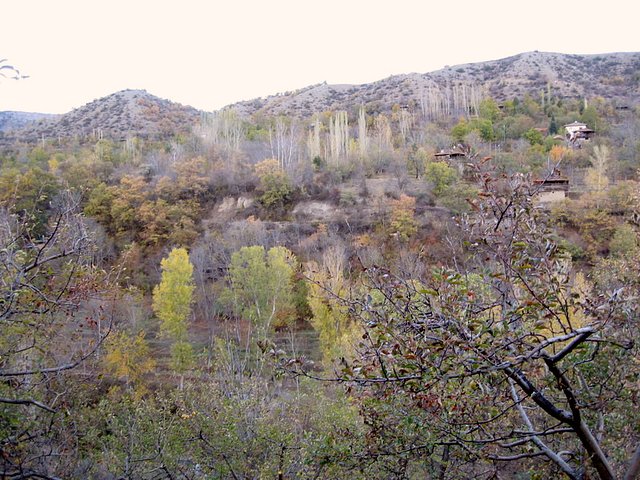
<path fill-rule="evenodd" d="M 636 478 L 639 57 L 601 57 L 6 134 L 0 477 Z"/>

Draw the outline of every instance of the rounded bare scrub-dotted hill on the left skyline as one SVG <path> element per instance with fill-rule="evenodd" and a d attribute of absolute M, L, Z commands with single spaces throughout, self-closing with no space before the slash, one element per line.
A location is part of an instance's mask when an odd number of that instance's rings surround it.
<path fill-rule="evenodd" d="M 7 113 L 7 112 L 4 112 Z M 200 112 L 158 98 L 145 90 L 122 90 L 94 100 L 54 118 L 5 132 L 6 140 L 31 142 L 45 138 L 101 135 L 121 139 L 127 135 L 162 137 L 189 131 Z"/>

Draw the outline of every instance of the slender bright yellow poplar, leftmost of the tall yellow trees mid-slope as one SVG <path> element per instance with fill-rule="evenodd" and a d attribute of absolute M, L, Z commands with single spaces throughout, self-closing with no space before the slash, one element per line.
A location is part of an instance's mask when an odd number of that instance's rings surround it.
<path fill-rule="evenodd" d="M 184 372 L 193 362 L 193 349 L 188 339 L 188 320 L 193 302 L 193 265 L 184 248 L 174 248 L 160 263 L 162 280 L 153 289 L 153 311 L 162 322 L 160 333 L 172 341 L 171 362 L 180 374 L 180 389 Z"/>

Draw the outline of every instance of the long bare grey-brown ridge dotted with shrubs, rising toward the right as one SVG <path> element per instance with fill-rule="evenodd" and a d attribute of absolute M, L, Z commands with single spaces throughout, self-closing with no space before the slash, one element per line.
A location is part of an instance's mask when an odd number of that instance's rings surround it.
<path fill-rule="evenodd" d="M 430 99 L 442 103 L 442 99 L 461 101 L 465 95 L 490 95 L 497 100 L 525 94 L 539 97 L 549 88 L 553 96 L 561 98 L 602 96 L 621 105 L 635 104 L 640 98 L 640 53 L 527 52 L 500 60 L 447 66 L 431 73 L 394 75 L 362 85 L 322 83 L 232 107 L 245 115 L 259 112 L 297 117 L 326 110 L 350 110 L 355 105 L 384 111 L 394 104 L 413 104 L 426 111 Z"/>

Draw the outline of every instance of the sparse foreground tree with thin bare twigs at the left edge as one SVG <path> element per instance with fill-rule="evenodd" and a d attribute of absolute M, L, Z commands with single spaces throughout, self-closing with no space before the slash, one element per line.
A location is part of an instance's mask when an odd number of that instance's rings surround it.
<path fill-rule="evenodd" d="M 60 195 L 50 208 L 37 235 L 0 209 L 2 478 L 55 478 L 67 461 L 57 452 L 73 456 L 80 377 L 70 373 L 90 364 L 111 329 L 111 281 L 92 266 L 77 200 Z"/>

